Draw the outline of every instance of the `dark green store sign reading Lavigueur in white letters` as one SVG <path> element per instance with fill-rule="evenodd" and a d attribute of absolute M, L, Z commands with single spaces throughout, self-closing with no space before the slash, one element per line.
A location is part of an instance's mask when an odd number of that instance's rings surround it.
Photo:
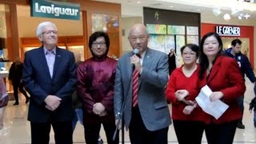
<path fill-rule="evenodd" d="M 74 19 L 80 18 L 80 5 L 70 2 L 54 2 L 50 0 L 31 0 L 32 17 Z"/>

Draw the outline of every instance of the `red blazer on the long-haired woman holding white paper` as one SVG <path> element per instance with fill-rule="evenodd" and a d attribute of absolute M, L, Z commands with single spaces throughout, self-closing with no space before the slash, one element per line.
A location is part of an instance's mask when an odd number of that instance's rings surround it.
<path fill-rule="evenodd" d="M 213 92 L 222 91 L 223 98 L 221 100 L 229 106 L 218 120 L 211 117 L 211 122 L 223 123 L 241 118 L 242 114 L 238 107 L 237 98 L 244 94 L 246 86 L 238 63 L 232 58 L 219 56 L 205 80 Z"/>

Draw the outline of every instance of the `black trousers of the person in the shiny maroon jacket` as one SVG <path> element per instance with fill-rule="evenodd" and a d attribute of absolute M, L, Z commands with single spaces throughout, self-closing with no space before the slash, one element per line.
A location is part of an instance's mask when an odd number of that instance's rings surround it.
<path fill-rule="evenodd" d="M 117 137 L 115 141 L 112 140 L 115 130 L 115 123 L 113 122 L 98 122 L 98 123 L 83 123 L 84 130 L 85 130 L 85 139 L 86 144 L 98 144 L 98 136 L 99 131 L 101 130 L 101 125 L 103 125 L 105 133 L 106 133 L 106 140 L 108 144 L 118 144 L 119 137 Z"/>

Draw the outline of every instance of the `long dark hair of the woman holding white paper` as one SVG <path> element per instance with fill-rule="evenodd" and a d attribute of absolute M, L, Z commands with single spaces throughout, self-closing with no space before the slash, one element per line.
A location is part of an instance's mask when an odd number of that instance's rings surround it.
<path fill-rule="evenodd" d="M 199 78 L 202 79 L 208 66 L 209 66 L 209 61 L 208 61 L 208 58 L 206 56 L 206 54 L 203 53 L 203 45 L 206 41 L 206 38 L 210 37 L 210 36 L 214 36 L 217 41 L 218 41 L 218 46 L 220 48 L 220 50 L 218 50 L 218 54 L 216 56 L 216 58 L 222 54 L 222 47 L 223 47 L 223 44 L 222 44 L 222 38 L 217 34 L 217 33 L 214 33 L 214 32 L 210 32 L 210 33 L 207 33 L 205 34 L 203 37 L 202 37 L 202 40 L 200 42 L 200 46 L 199 46 L 199 49 L 200 49 L 200 55 L 199 55 L 199 66 L 200 66 L 200 70 L 199 70 Z M 215 59 L 216 59 L 215 58 Z"/>

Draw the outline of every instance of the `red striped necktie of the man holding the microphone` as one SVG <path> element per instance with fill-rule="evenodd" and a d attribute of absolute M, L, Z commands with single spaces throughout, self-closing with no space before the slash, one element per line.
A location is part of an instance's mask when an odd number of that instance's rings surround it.
<path fill-rule="evenodd" d="M 133 73 L 133 106 L 138 104 L 138 70 L 134 69 Z"/>

